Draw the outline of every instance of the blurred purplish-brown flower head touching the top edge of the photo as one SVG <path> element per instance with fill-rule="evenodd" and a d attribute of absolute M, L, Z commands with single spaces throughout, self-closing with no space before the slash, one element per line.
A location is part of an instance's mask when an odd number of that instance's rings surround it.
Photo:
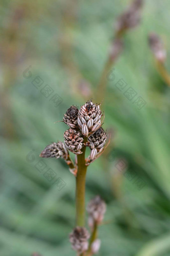
<path fill-rule="evenodd" d="M 140 22 L 140 10 L 143 0 L 133 0 L 127 11 L 120 15 L 116 22 L 116 32 L 136 27 Z"/>

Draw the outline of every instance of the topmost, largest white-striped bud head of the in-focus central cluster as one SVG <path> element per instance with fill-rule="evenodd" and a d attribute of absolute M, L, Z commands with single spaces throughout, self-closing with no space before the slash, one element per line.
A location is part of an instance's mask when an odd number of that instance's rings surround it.
<path fill-rule="evenodd" d="M 81 129 L 81 133 L 85 137 L 94 133 L 101 125 L 100 119 L 100 105 L 93 104 L 91 100 L 88 100 L 78 111 L 77 122 Z"/>

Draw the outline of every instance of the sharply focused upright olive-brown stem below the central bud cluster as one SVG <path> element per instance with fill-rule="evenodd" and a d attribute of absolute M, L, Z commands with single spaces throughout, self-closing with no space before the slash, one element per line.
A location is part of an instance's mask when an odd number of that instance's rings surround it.
<path fill-rule="evenodd" d="M 84 143 L 87 138 L 84 138 Z M 82 154 L 77 155 L 77 176 L 76 176 L 76 226 L 83 227 L 85 224 L 85 175 L 87 166 L 85 165 L 85 146 Z"/>

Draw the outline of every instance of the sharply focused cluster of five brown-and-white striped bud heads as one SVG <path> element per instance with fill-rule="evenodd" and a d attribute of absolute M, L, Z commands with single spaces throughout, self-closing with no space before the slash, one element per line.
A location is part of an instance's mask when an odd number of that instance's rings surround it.
<path fill-rule="evenodd" d="M 101 116 L 100 104 L 94 104 L 91 100 L 83 104 L 79 110 L 74 105 L 70 106 L 63 116 L 63 122 L 69 126 L 63 135 L 64 144 L 58 142 L 46 146 L 40 157 L 67 159 L 69 155 L 67 150 L 79 155 L 82 153 L 82 147 L 89 146 L 90 160 L 95 159 L 106 141 L 106 134 L 101 128 Z M 84 137 L 88 138 L 87 143 L 84 143 Z"/>

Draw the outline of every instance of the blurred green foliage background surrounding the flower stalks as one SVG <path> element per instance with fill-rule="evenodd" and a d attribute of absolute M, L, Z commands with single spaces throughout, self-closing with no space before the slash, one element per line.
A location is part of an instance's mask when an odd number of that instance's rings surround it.
<path fill-rule="evenodd" d="M 74 177 L 62 160 L 39 162 L 38 156 L 46 145 L 63 141 L 67 126 L 54 122 L 70 105 L 95 102 L 116 17 L 129 3 L 1 1 L 1 256 L 75 255 L 68 241 L 75 223 Z M 86 179 L 86 202 L 99 194 L 107 203 L 98 255 L 170 255 L 170 93 L 147 45 L 150 31 L 162 37 L 170 70 L 169 10 L 169 0 L 145 1 L 140 25 L 123 37 L 114 81 L 107 79 L 103 127 L 112 139 Z M 117 89 L 119 79 L 146 102 L 141 109 Z M 125 162 L 123 169 L 119 163 Z M 53 179 L 45 176 L 49 168 Z M 53 184 L 56 178 L 62 188 Z"/>

